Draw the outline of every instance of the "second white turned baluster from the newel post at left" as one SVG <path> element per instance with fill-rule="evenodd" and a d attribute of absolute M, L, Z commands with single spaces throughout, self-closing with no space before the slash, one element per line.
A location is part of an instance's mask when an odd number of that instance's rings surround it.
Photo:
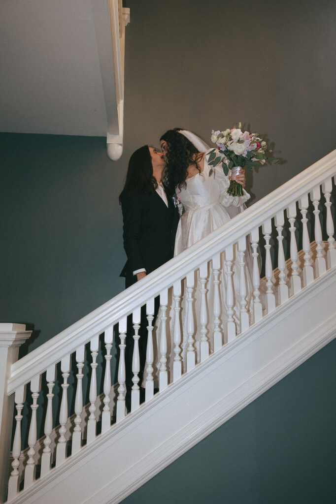
<path fill-rule="evenodd" d="M 30 391 L 33 399 L 33 404 L 31 405 L 31 419 L 29 425 L 29 433 L 28 433 L 28 461 L 25 469 L 25 482 L 23 489 L 26 490 L 35 480 L 35 445 L 37 440 L 37 419 L 36 419 L 36 411 L 38 408 L 37 399 L 39 396 L 39 392 L 41 390 L 41 376 L 35 376 L 30 382 Z"/>

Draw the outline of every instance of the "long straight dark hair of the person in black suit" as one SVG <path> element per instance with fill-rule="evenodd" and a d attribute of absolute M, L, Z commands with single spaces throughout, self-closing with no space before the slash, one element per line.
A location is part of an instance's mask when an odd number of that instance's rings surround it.
<path fill-rule="evenodd" d="M 128 170 L 123 191 L 119 196 L 119 203 L 127 194 L 152 193 L 157 187 L 153 176 L 152 158 L 148 145 L 144 145 L 133 152 L 128 163 Z"/>

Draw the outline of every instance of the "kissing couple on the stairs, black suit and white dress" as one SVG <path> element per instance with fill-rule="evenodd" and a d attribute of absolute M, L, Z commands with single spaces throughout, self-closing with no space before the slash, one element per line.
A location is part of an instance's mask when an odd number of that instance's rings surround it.
<path fill-rule="evenodd" d="M 160 138 L 161 152 L 145 145 L 137 149 L 131 156 L 126 176 L 125 186 L 119 201 L 123 213 L 123 238 L 127 262 L 121 273 L 126 277 L 126 287 L 141 280 L 146 274 L 180 254 L 195 242 L 207 236 L 222 224 L 237 215 L 250 196 L 243 190 L 243 196 L 230 196 L 227 189 L 231 177 L 225 175 L 221 167 L 215 167 L 210 176 L 208 157 L 210 148 L 199 137 L 190 131 L 168 130 Z M 235 180 L 245 187 L 245 171 L 235 177 Z M 177 205 L 177 202 L 179 203 Z M 180 211 L 183 205 L 183 213 Z M 180 217 L 180 213 L 182 213 Z M 252 293 L 250 272 L 251 258 L 246 259 L 247 268 L 247 299 Z M 211 270 L 211 266 L 209 267 Z M 234 260 L 234 288 L 239 293 L 239 261 Z M 208 304 L 213 295 L 212 272 L 209 271 Z M 220 294 L 222 304 L 225 303 L 226 278 L 221 270 Z M 199 303 L 200 285 L 196 286 L 195 312 Z M 237 297 L 237 296 L 236 296 Z M 181 343 L 182 360 L 186 360 L 187 334 L 186 310 L 182 299 L 181 318 L 183 341 Z M 159 309 L 159 299 L 155 300 L 154 322 Z M 235 319 L 239 321 L 239 302 L 235 306 Z M 171 327 L 174 325 L 174 313 L 171 312 Z M 129 318 L 130 319 L 130 318 Z M 209 320 L 209 318 L 208 318 Z M 222 314 L 222 327 L 225 327 L 226 317 Z M 153 322 L 153 323 L 154 323 Z M 196 322 L 196 321 L 195 321 Z M 158 324 L 160 321 L 158 321 Z M 141 312 L 140 325 L 140 372 L 142 383 L 146 360 L 147 319 L 145 307 Z M 156 328 L 157 329 L 157 328 Z M 211 328 L 209 328 L 211 335 Z M 159 334 L 156 330 L 157 348 Z M 173 334 L 171 332 L 171 334 Z M 169 336 L 169 335 L 168 335 Z M 200 328 L 195 325 L 195 346 L 199 360 Z M 169 339 L 169 338 L 168 338 Z M 211 338 L 210 349 L 211 349 Z M 128 325 L 126 338 L 126 407 L 130 409 L 130 393 L 132 387 L 132 356 L 133 331 L 131 321 Z M 169 342 L 167 351 L 167 367 L 173 372 L 173 345 Z M 159 369 L 159 356 L 156 356 L 156 369 Z M 172 376 L 171 376 L 172 378 Z M 172 381 L 172 380 L 171 380 Z M 142 392 L 141 392 L 142 394 Z M 140 397 L 141 401 L 141 397 Z"/>

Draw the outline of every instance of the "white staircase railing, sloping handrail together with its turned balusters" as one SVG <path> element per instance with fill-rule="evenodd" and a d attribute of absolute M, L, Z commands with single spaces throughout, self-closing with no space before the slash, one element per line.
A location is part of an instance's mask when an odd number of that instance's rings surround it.
<path fill-rule="evenodd" d="M 153 398 L 154 380 L 152 364 L 154 362 L 154 347 L 152 338 L 152 321 L 154 313 L 154 299 L 160 298 L 159 321 L 160 338 L 157 349 L 159 369 L 159 393 L 170 383 L 176 382 L 184 374 L 192 370 L 200 361 L 204 361 L 211 353 L 219 350 L 223 345 L 234 341 L 239 334 L 246 331 L 251 324 L 258 324 L 267 314 L 284 304 L 290 297 L 297 295 L 302 288 L 308 286 L 315 279 L 321 277 L 327 270 L 336 266 L 336 249 L 334 243 L 334 225 L 331 211 L 332 177 L 336 174 L 336 151 L 303 171 L 289 182 L 273 191 L 270 195 L 257 202 L 249 209 L 238 215 L 230 222 L 218 228 L 208 237 L 202 239 L 178 257 L 149 274 L 140 283 L 133 285 L 107 303 L 103 304 L 82 320 L 72 325 L 59 335 L 44 343 L 27 356 L 11 365 L 7 380 L 7 397 L 15 398 L 15 435 L 13 442 L 13 462 L 10 469 L 8 483 L 8 501 L 22 490 L 21 475 L 23 476 L 23 490 L 34 485 L 36 468 L 43 478 L 56 467 L 63 464 L 67 457 L 84 449 L 86 444 L 94 442 L 98 432 L 106 432 L 111 427 L 113 406 L 110 404 L 111 390 L 111 350 L 119 343 L 116 331 L 119 333 L 120 358 L 118 368 L 118 393 L 116 407 L 116 422 L 120 423 L 125 415 L 125 340 L 127 331 L 127 317 L 132 316 L 134 330 L 133 357 L 133 387 L 132 412 L 140 406 L 138 384 L 138 330 L 140 325 L 140 308 L 146 306 L 149 327 L 147 342 L 147 375 L 145 381 L 145 401 Z M 309 197 L 311 204 L 309 203 Z M 323 206 L 322 206 L 323 205 Z M 312 211 L 310 211 L 310 207 Z M 321 211 L 324 207 L 323 212 Z M 299 210 L 298 210 L 299 209 Z M 333 209 L 334 210 L 334 209 Z M 314 229 L 316 242 L 316 258 L 314 264 L 311 259 L 309 237 L 309 217 L 313 215 L 311 230 Z M 323 218 L 322 218 L 323 216 Z M 322 221 L 322 222 L 321 222 Z M 274 229 L 275 228 L 275 229 Z M 284 231 L 285 229 L 285 231 Z M 323 233 L 327 242 L 323 241 Z M 262 237 L 260 238 L 260 234 Z M 310 233 L 312 235 L 312 232 Z M 286 269 L 284 237 L 288 237 L 291 271 Z M 245 282 L 246 244 L 251 243 L 253 267 L 253 294 L 251 303 L 247 299 Z M 301 246 L 302 243 L 302 246 Z M 326 243 L 326 244 L 325 244 Z M 264 246 L 264 271 L 266 286 L 263 299 L 260 292 L 260 270 L 258 258 L 259 244 Z M 276 245 L 276 246 L 275 246 Z M 298 249 L 304 251 L 302 269 L 298 259 Z M 325 249 L 326 248 L 326 249 Z M 240 268 L 239 320 L 234 317 L 234 275 L 233 261 L 237 254 Z M 276 281 L 273 277 L 272 258 L 277 263 Z M 276 258 L 276 259 L 275 259 Z M 301 271 L 302 270 L 302 271 Z M 213 281 L 213 302 L 207 305 L 207 285 L 209 272 Z M 198 275 L 196 276 L 195 275 Z M 226 306 L 221 303 L 220 278 L 225 275 Z M 195 312 L 195 278 L 199 282 L 199 310 Z M 177 314 L 172 331 L 167 321 L 167 307 L 169 307 L 169 293 L 172 294 L 174 304 L 172 312 Z M 182 302 L 181 302 L 182 301 Z M 182 308 L 181 308 L 182 306 Z M 208 309 L 207 309 L 208 306 Z M 185 366 L 181 359 L 181 339 L 183 329 L 180 323 L 181 311 L 186 310 L 186 332 L 188 337 L 187 357 Z M 223 318 L 223 313 L 227 317 Z M 208 327 L 211 319 L 213 331 L 209 334 Z M 225 320 L 225 327 L 222 327 Z M 201 339 L 199 352 L 195 349 L 195 325 L 200 327 Z M 174 362 L 167 359 L 167 341 L 174 347 Z M 99 344 L 104 348 L 103 375 L 103 409 L 96 410 L 97 399 L 97 355 Z M 86 360 L 90 360 L 89 373 L 89 417 L 85 424 L 82 421 L 83 410 L 83 367 Z M 59 370 L 61 379 L 61 405 L 59 412 L 59 438 L 55 453 L 50 449 L 50 434 L 52 431 L 53 389 L 56 372 Z M 68 404 L 69 376 L 75 379 L 75 400 L 73 409 Z M 22 448 L 21 419 L 25 402 L 26 387 L 30 384 L 32 396 L 29 406 L 30 424 L 27 442 L 28 460 L 20 470 L 20 455 Z M 43 390 L 47 389 L 43 400 L 44 417 L 38 420 L 38 399 Z M 70 434 L 67 427 L 68 417 L 74 416 L 74 429 Z M 38 421 L 40 425 L 38 425 Z M 98 421 L 99 428 L 97 428 Z M 43 422 L 43 425 L 41 424 Z M 7 435 L 10 436 L 8 424 Z M 37 432 L 44 429 L 44 447 L 42 454 L 35 453 Z M 5 428 L 5 427 L 4 427 Z M 3 426 L 2 426 L 3 429 Z M 4 432 L 2 432 L 2 435 Z M 71 453 L 67 450 L 68 440 L 71 439 Z M 9 460 L 9 453 L 7 454 Z M 21 486 L 20 486 L 21 484 Z M 7 485 L 6 485 L 7 486 Z M 3 489 L 6 495 L 6 488 Z"/>

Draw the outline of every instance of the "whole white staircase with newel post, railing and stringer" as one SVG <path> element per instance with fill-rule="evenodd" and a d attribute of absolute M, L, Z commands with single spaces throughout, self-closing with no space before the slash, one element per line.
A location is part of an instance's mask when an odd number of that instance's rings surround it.
<path fill-rule="evenodd" d="M 335 174 L 333 151 L 20 360 L 16 360 L 17 349 L 28 336 L 25 328 L 3 327 L 1 362 L 7 362 L 7 366 L 0 376 L 0 441 L 5 446 L 0 461 L 4 476 L 1 502 L 120 502 L 331 341 L 336 336 L 336 249 L 330 201 Z M 253 256 L 249 312 L 244 280 L 246 238 Z M 239 324 L 232 316 L 235 253 L 241 271 Z M 207 309 L 209 264 L 215 292 Z M 226 307 L 221 305 L 216 283 L 221 270 L 227 280 Z M 260 271 L 264 272 L 264 281 L 260 281 Z M 195 277 L 202 285 L 198 312 Z M 180 357 L 183 287 L 189 342 L 185 366 Z M 152 321 L 158 295 L 162 365 L 159 392 L 154 395 Z M 178 315 L 172 331 L 166 320 L 170 296 Z M 136 350 L 140 307 L 144 305 L 149 326 L 147 380 L 146 399 L 140 404 Z M 221 324 L 223 310 L 228 314 L 225 327 Z M 135 340 L 134 387 L 131 412 L 127 413 L 124 355 L 130 314 Z M 193 341 L 194 320 L 203 329 L 199 358 Z M 209 320 L 215 326 L 212 334 L 207 330 Z M 172 369 L 164 365 L 167 342 L 176 350 Z M 89 366 L 89 372 L 85 366 Z M 113 369 L 118 370 L 118 383 L 111 386 Z M 99 370 L 103 376 L 101 395 L 97 387 Z M 55 415 L 57 374 L 61 401 Z M 85 379 L 89 404 L 83 408 Z M 29 433 L 23 443 L 21 423 L 27 386 L 31 393 Z M 73 401 L 69 400 L 71 389 Z M 38 408 L 43 415 L 37 414 Z M 15 434 L 10 455 L 13 414 Z M 60 424 L 57 428 L 53 428 L 55 419 Z M 44 433 L 40 439 L 38 432 Z"/>

